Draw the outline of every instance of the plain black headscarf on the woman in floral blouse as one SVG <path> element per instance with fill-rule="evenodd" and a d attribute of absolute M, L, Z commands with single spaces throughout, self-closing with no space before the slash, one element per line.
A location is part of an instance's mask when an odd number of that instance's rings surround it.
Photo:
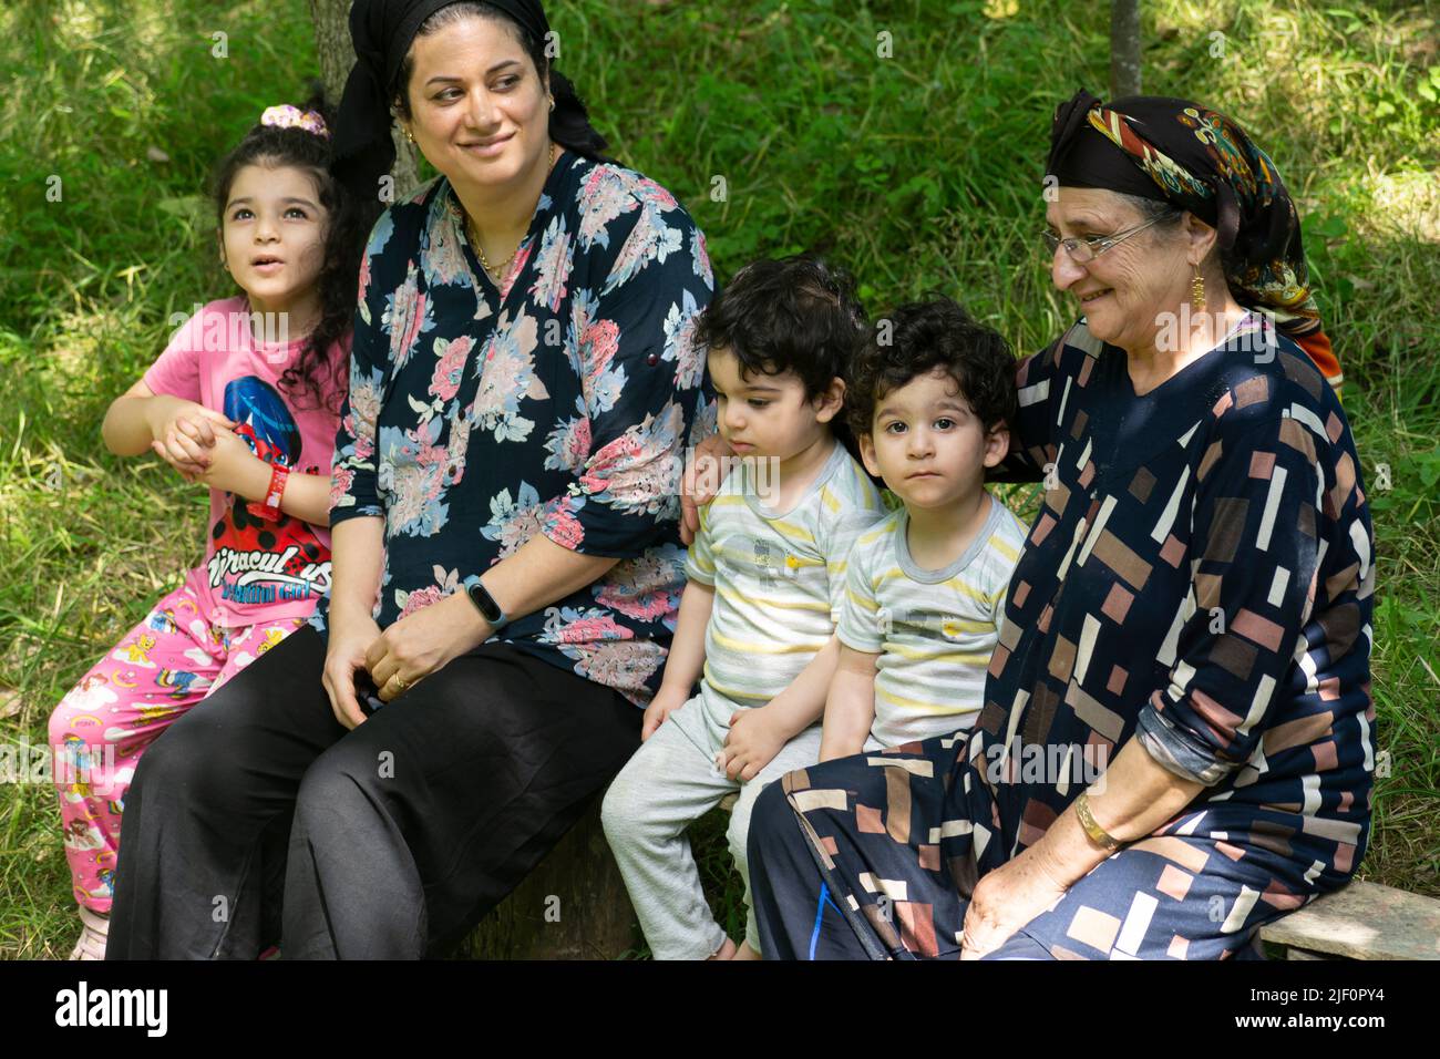
<path fill-rule="evenodd" d="M 356 0 L 350 9 L 350 39 L 356 65 L 346 81 L 336 120 L 331 166 L 336 177 L 356 195 L 373 197 L 382 176 L 395 166 L 390 138 L 390 101 L 399 95 L 400 63 L 415 35 L 435 12 L 462 0 Z M 510 16 L 533 39 L 550 33 L 544 9 L 536 0 L 484 0 Z M 609 161 L 605 137 L 595 131 L 570 79 L 550 68 L 550 138 L 576 154 Z"/>

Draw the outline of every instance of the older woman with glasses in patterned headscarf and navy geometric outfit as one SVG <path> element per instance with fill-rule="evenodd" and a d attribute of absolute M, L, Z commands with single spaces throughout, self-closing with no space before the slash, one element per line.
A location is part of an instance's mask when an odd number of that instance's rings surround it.
<path fill-rule="evenodd" d="M 984 710 L 760 795 L 768 955 L 1254 955 L 1364 856 L 1374 545 L 1274 164 L 1081 92 L 1050 173 L 1083 317 L 1018 369 L 1009 471 L 1045 494 Z"/>

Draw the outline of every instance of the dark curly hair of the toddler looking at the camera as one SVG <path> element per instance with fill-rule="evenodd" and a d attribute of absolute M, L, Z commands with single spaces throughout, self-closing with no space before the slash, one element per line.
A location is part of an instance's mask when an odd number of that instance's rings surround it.
<path fill-rule="evenodd" d="M 960 388 L 986 431 L 1015 418 L 1015 357 L 1009 344 L 950 298 L 932 298 L 900 305 L 876 321 L 845 389 L 851 429 L 870 434 L 886 393 L 936 367 L 943 367 Z"/>

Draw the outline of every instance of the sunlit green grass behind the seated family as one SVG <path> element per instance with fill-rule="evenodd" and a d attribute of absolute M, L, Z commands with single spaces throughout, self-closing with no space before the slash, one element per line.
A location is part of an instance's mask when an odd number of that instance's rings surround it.
<path fill-rule="evenodd" d="M 821 249 L 877 311 L 943 291 L 1018 350 L 1068 323 L 1035 238 L 1040 179 L 1054 104 L 1080 84 L 1104 92 L 1104 4 L 552 7 L 560 68 L 618 156 L 687 203 L 721 277 L 759 254 Z M 1390 775 L 1362 873 L 1440 895 L 1434 7 L 1155 0 L 1145 12 L 1146 91 L 1234 115 L 1300 203 L 1375 516 L 1374 696 Z M 212 56 L 216 30 L 225 59 Z M 880 33 L 891 58 L 877 56 Z M 109 457 L 99 421 L 160 352 L 171 313 L 230 292 L 197 200 L 204 173 L 317 72 L 304 0 L 0 12 L 7 742 L 43 741 L 66 689 L 200 558 L 202 491 L 153 460 Z M 52 174 L 60 202 L 46 199 Z M 49 788 L 0 792 L 0 955 L 65 955 L 73 939 L 58 824 Z M 701 821 L 697 839 L 737 934 L 723 820 Z"/>

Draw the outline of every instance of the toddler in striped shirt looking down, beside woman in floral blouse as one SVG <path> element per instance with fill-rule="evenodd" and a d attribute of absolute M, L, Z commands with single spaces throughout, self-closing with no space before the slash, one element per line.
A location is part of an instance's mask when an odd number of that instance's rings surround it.
<path fill-rule="evenodd" d="M 710 912 L 685 827 L 736 794 L 726 839 L 747 879 L 760 788 L 819 755 L 845 558 L 886 514 L 835 437 L 864 331 L 848 277 L 808 256 L 740 269 L 696 327 L 740 460 L 701 514 L 644 743 L 600 811 L 657 960 L 759 957 L 753 913 L 737 945 Z"/>

